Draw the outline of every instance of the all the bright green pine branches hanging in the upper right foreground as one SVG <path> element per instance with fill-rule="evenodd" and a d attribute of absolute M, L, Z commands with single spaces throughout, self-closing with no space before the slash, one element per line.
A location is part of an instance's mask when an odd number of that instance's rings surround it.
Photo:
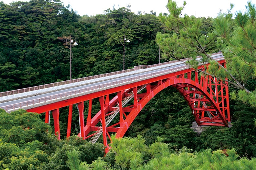
<path fill-rule="evenodd" d="M 197 70 L 199 61 L 195 56 L 202 55 L 203 62 L 209 62 L 210 67 L 203 72 L 205 75 L 217 77 L 220 80 L 228 78 L 231 87 L 241 89 L 238 99 L 255 107 L 255 93 L 248 90 L 247 82 L 255 78 L 255 5 L 248 2 L 245 14 L 237 12 L 231 19 L 231 5 L 227 14 L 220 13 L 211 24 L 205 19 L 181 15 L 183 7 L 168 1 L 168 16 L 160 14 L 160 20 L 169 33 L 158 33 L 156 41 L 163 51 L 162 57 L 168 60 L 192 57 L 187 65 Z M 212 29 L 215 27 L 214 29 Z M 217 43 L 215 43 L 217 42 Z M 210 53 L 222 50 L 227 61 L 226 68 L 212 60 Z M 236 98 L 236 93 L 233 93 Z"/>

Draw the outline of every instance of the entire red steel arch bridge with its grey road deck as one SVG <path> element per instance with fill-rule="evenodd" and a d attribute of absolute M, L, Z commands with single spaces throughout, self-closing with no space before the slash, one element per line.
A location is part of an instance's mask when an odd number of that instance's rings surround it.
<path fill-rule="evenodd" d="M 225 67 L 222 53 L 212 54 L 211 57 Z M 202 64 L 199 68 L 207 69 L 207 65 Z M 46 123 L 52 114 L 55 134 L 60 139 L 59 116 L 66 113 L 60 113 L 59 108 L 69 107 L 69 137 L 74 105 L 79 112 L 78 135 L 93 143 L 103 135 L 103 143 L 108 146 L 110 132 L 115 132 L 117 138 L 123 137 L 148 101 L 168 86 L 175 87 L 181 93 L 199 126 L 228 127 L 230 114 L 227 82 L 211 76 L 199 76 L 198 71 L 192 70 L 182 61 L 136 66 L 134 69 L 114 73 L 2 92 L 0 108 L 7 112 L 17 109 L 45 112 Z M 100 102 L 96 115 L 92 115 L 93 100 Z M 89 101 L 89 109 L 86 111 L 85 101 Z M 114 118 L 117 123 L 112 123 Z"/>

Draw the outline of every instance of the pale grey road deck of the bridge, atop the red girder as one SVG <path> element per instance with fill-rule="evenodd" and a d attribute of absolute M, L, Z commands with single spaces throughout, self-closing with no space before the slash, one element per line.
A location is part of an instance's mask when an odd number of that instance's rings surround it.
<path fill-rule="evenodd" d="M 223 60 L 222 53 L 212 55 L 215 60 Z M 200 57 L 198 57 L 200 59 Z M 59 85 L 25 93 L 11 94 L 0 97 L 0 108 L 10 112 L 16 109 L 31 109 L 41 105 L 54 103 L 76 96 L 94 93 L 109 88 L 121 86 L 127 83 L 148 79 L 154 76 L 168 74 L 177 70 L 188 69 L 181 61 L 172 61 L 164 64 L 147 66 L 145 69 L 134 69 L 129 72 L 104 76 L 100 78 L 88 79 L 70 84 Z M 97 76 L 94 76 L 97 77 Z"/>

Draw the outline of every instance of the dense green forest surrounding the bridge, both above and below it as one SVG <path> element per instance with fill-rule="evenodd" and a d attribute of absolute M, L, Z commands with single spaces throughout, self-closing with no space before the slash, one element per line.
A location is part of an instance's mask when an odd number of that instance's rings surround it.
<path fill-rule="evenodd" d="M 212 18 L 192 18 L 202 22 L 203 36 L 213 32 Z M 72 47 L 72 78 L 80 78 L 122 70 L 124 35 L 130 40 L 125 44 L 125 69 L 158 63 L 156 36 L 173 30 L 166 29 L 153 11 L 134 14 L 127 7 L 79 16 L 59 0 L 32 0 L 11 5 L 0 2 L 0 31 L 3 92 L 68 80 L 70 51 L 60 37 L 72 35 L 78 43 Z M 214 40 L 205 49 L 207 53 L 218 52 L 224 46 L 217 37 Z M 164 57 L 160 62 L 166 61 Z M 246 87 L 253 91 L 255 84 L 255 79 L 248 79 Z M 232 87 L 229 90 L 236 91 Z M 93 107 L 97 106 L 94 101 Z M 68 113 L 68 108 L 60 112 Z M 65 139 L 68 114 L 60 116 L 58 141 L 52 123 L 44 123 L 44 114 L 0 110 L 0 168 L 253 169 L 256 110 L 234 99 L 230 101 L 230 112 L 232 127 L 208 127 L 196 136 L 190 129 L 194 121 L 191 110 L 183 97 L 168 87 L 145 106 L 125 138 L 116 140 L 113 136 L 110 152 L 105 155 L 101 143 L 91 144 L 76 135 Z M 72 133 L 77 134 L 78 117 L 73 119 Z"/>

